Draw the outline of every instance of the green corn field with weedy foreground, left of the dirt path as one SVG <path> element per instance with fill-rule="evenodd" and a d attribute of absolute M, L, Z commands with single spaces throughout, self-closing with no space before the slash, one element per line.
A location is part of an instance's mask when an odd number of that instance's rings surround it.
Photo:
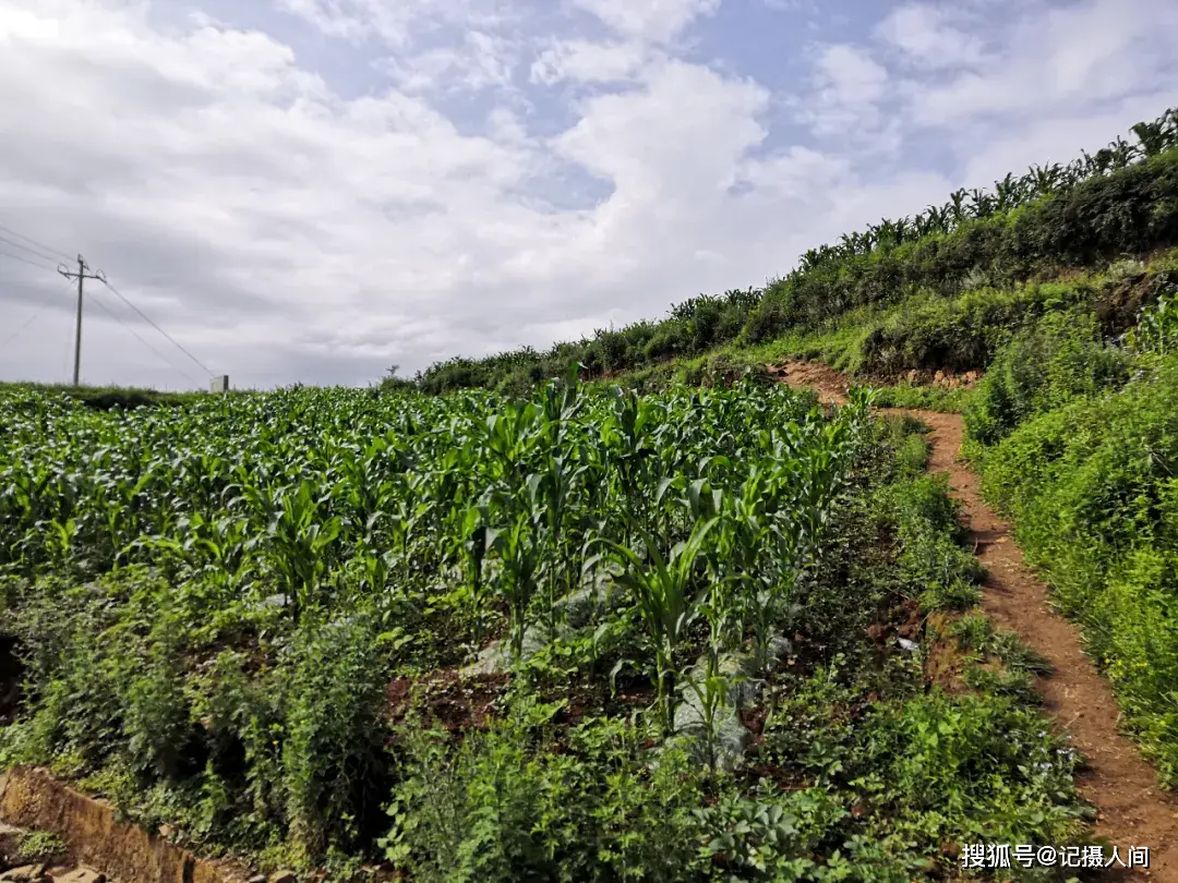
<path fill-rule="evenodd" d="M 0 764 L 312 878 L 899 883 L 978 814 L 1077 839 L 1024 699 L 926 697 L 862 638 L 968 559 L 873 514 L 871 401 L 9 390 Z"/>

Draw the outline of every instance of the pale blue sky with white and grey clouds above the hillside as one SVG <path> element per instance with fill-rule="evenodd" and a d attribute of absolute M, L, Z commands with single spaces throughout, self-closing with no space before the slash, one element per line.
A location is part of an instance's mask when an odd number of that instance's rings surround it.
<path fill-rule="evenodd" d="M 0 0 L 0 379 L 70 378 L 78 254 L 92 384 L 660 318 L 1127 134 L 1176 40 L 1172 0 Z"/>

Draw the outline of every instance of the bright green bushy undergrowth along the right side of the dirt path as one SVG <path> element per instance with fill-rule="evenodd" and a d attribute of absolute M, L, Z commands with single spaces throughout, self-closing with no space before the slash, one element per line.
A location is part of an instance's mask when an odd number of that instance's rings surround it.
<path fill-rule="evenodd" d="M 1127 358 L 1112 353 L 1103 364 Z M 1173 781 L 1178 363 L 1162 357 L 1130 381 L 1120 381 L 1121 371 L 1105 385 L 1094 379 L 1100 365 L 1072 357 L 1039 367 L 1054 379 L 1027 385 L 1030 414 L 980 451 L 985 487 L 1013 516 L 1020 545 L 1064 609 L 1085 625 L 1131 725 Z"/>

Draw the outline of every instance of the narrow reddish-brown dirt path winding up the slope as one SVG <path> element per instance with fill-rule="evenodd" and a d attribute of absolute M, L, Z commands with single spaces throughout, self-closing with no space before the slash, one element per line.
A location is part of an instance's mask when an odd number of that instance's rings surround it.
<path fill-rule="evenodd" d="M 790 363 L 775 366 L 773 372 L 790 386 L 815 390 L 823 400 L 845 400 L 847 378 L 826 365 Z M 958 457 L 961 417 L 907 413 L 931 430 L 928 470 L 947 473 L 952 496 L 961 500 L 969 540 L 988 572 L 982 610 L 1002 628 L 1018 632 L 1053 669 L 1050 677 L 1039 679 L 1039 691 L 1047 713 L 1090 762 L 1077 785 L 1097 808 L 1097 835 L 1107 837 L 1126 861 L 1130 847 L 1150 850 L 1147 871 L 1119 878 L 1178 883 L 1178 801 L 1158 788 L 1153 768 L 1117 731 L 1119 709 L 1108 682 L 1084 655 L 1076 626 L 1051 608 L 1047 587 L 1024 563 L 1007 525 L 981 499 L 980 480 Z"/>

